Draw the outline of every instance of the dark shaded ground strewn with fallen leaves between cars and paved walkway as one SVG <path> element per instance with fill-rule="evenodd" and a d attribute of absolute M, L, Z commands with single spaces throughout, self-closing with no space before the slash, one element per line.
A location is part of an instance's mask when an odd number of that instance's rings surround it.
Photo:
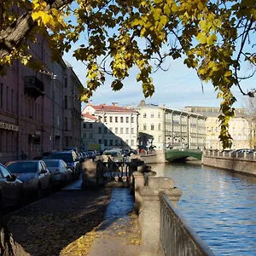
<path fill-rule="evenodd" d="M 110 196 L 111 189 L 62 191 L 9 216 L 9 230 L 30 255 L 86 255 Z"/>

